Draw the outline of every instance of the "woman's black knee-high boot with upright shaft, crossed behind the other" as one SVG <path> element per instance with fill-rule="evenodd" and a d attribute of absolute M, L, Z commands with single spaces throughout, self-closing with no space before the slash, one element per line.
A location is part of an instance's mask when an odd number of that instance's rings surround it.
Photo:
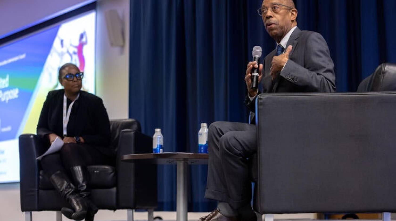
<path fill-rule="evenodd" d="M 75 166 L 75 167 L 71 167 L 70 171 L 72 173 L 74 183 L 77 185 L 78 193 L 82 198 L 84 198 L 88 206 L 88 212 L 86 214 L 85 220 L 93 221 L 95 214 L 98 212 L 98 208 L 89 199 L 90 193 L 87 189 L 88 170 L 85 166 Z M 70 214 L 72 214 L 72 211 L 68 208 L 63 208 L 62 213 L 69 218 Z"/>

